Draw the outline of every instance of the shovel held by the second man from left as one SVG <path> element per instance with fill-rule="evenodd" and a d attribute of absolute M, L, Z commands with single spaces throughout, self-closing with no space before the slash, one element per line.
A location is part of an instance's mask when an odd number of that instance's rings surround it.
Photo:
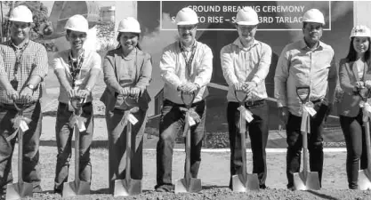
<path fill-rule="evenodd" d="M 79 99 L 71 100 L 71 105 L 73 108 L 75 108 L 75 112 L 73 115 L 79 117 L 81 116 L 82 108 L 77 107 L 77 101 L 80 101 L 80 100 Z M 78 153 L 78 149 L 80 146 L 80 132 L 79 132 L 79 127 L 77 123 L 75 123 L 73 126 L 73 132 L 75 134 L 75 180 L 70 181 L 70 182 L 65 182 L 63 184 L 63 191 L 62 191 L 63 197 L 81 196 L 81 195 L 90 194 L 90 183 L 86 181 L 82 181 L 79 178 L 80 155 Z"/>

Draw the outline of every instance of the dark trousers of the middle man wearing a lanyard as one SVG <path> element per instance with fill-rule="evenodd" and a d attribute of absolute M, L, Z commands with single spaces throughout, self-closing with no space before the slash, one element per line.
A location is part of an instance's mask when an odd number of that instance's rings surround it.
<path fill-rule="evenodd" d="M 177 133 L 183 130 L 185 118 L 181 107 L 184 106 L 165 100 L 161 109 L 160 136 L 157 142 L 157 186 L 155 188 L 165 188 L 169 191 L 173 189 L 173 146 Z M 192 108 L 196 110 L 198 116 L 201 116 L 201 122 L 190 128 L 190 173 L 192 178 L 197 178 L 201 163 L 202 140 L 205 136 L 205 100 L 195 103 Z"/>

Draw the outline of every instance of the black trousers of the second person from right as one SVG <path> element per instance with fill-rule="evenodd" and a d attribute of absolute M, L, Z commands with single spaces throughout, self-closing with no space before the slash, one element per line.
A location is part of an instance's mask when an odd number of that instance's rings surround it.
<path fill-rule="evenodd" d="M 311 116 L 311 134 L 308 134 L 308 151 L 311 172 L 319 172 L 319 183 L 322 180 L 323 169 L 323 124 L 327 116 L 328 106 L 325 101 L 314 103 L 314 109 L 317 111 L 315 116 Z M 300 131 L 302 116 L 294 116 L 291 113 L 288 116 L 286 124 L 286 176 L 287 188 L 294 186 L 294 172 L 299 172 L 302 155 L 302 133 Z"/>

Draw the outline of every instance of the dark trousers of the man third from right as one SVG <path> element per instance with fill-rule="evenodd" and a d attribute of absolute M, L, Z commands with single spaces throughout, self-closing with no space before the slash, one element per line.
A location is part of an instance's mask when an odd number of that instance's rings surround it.
<path fill-rule="evenodd" d="M 230 187 L 231 177 L 242 173 L 241 134 L 239 133 L 239 103 L 229 102 L 227 120 L 230 132 Z M 269 108 L 265 100 L 257 105 L 246 107 L 253 113 L 254 120 L 246 122 L 253 152 L 253 173 L 258 174 L 259 184 L 264 185 L 267 178 L 267 163 L 265 148 L 268 140 Z"/>

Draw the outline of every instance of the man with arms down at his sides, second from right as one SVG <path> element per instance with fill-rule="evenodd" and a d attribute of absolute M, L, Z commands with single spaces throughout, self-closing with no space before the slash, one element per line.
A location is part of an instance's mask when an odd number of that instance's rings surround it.
<path fill-rule="evenodd" d="M 337 82 L 333 48 L 320 41 L 325 18 L 322 12 L 311 9 L 302 17 L 303 38 L 287 44 L 278 59 L 274 77 L 275 97 L 278 100 L 278 116 L 286 125 L 287 188 L 294 189 L 293 173 L 299 172 L 302 152 L 302 101 L 297 95 L 300 87 L 309 91 L 299 92 L 300 98 L 308 96 L 308 109 L 317 112 L 310 116 L 308 150 L 311 172 L 319 172 L 321 182 L 323 168 L 323 125 L 335 100 Z M 311 112 L 312 114 L 314 112 Z"/>

